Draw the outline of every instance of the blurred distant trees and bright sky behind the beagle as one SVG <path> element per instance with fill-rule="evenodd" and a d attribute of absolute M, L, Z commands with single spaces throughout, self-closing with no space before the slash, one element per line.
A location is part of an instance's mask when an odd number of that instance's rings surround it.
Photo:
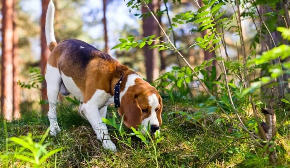
<path fill-rule="evenodd" d="M 32 87 L 39 89 L 20 88 L 17 82 L 27 83 L 31 77 L 29 72 L 41 70 L 43 74 L 49 50 L 45 39 L 45 16 L 49 0 L 6 0 L 2 1 L 2 75 L 1 75 L 1 107 L 3 111 L 7 108 L 8 113 L 16 117 L 19 111 L 31 112 L 41 111 L 46 108 L 46 89 L 45 83 L 42 86 Z M 148 17 L 139 19 L 140 11 L 129 12 L 124 1 L 118 0 L 54 0 L 56 5 L 55 14 L 55 35 L 58 42 L 75 38 L 94 45 L 97 49 L 108 52 L 113 58 L 130 67 L 149 82 L 156 79 L 160 74 L 169 72 L 173 66 L 184 66 L 184 63 L 177 59 L 174 51 L 158 51 L 158 49 L 134 48 L 128 51 L 110 50 L 118 44 L 118 39 L 133 35 L 135 38 L 142 39 L 149 35 L 162 36 L 162 33 L 153 20 Z M 200 4 L 201 1 L 199 1 Z M 153 1 L 153 10 L 163 11 L 159 16 L 162 26 L 169 27 L 171 23 L 168 16 L 172 18 L 177 13 L 189 10 L 197 11 L 196 3 L 189 0 L 181 0 L 181 3 L 164 3 L 157 0 Z M 168 11 L 166 11 L 168 9 Z M 222 7 L 222 11 L 227 11 L 225 16 L 232 16 L 235 7 L 227 4 Z M 143 9 L 146 12 L 146 9 Z M 168 16 L 167 13 L 168 12 Z M 233 23 L 234 24 L 234 23 Z M 257 24 L 259 24 L 257 19 Z M 246 42 L 257 34 L 252 19 L 242 20 L 244 37 Z M 204 33 L 196 33 L 194 24 L 181 25 L 174 30 L 171 38 L 176 40 L 176 46 L 183 48 L 180 52 L 185 56 L 191 65 L 199 65 L 204 60 L 212 58 L 214 53 L 204 51 L 199 46 L 189 48 L 196 37 Z M 225 33 L 227 52 L 229 57 L 235 60 L 238 57 L 236 46 L 240 45 L 239 36 L 235 29 Z M 187 48 L 189 48 L 187 50 Z M 249 48 L 249 45 L 247 45 Z M 3 52 L 4 51 L 4 52 Z M 241 53 L 241 52 L 240 52 Z M 225 55 L 223 55 L 225 57 Z M 13 67 L 13 68 L 12 68 Z M 39 77 L 39 76 L 37 76 Z M 201 75 L 202 77 L 202 75 Z M 12 82 L 13 78 L 13 82 Z M 12 84 L 13 83 L 13 84 Z M 22 86 L 23 86 L 22 85 Z M 27 86 L 31 87 L 31 85 Z M 42 91 L 42 92 L 41 92 Z M 42 101 L 43 100 L 43 101 Z M 6 105 L 5 105 L 6 103 Z M 46 110 L 44 110 L 46 111 Z"/>

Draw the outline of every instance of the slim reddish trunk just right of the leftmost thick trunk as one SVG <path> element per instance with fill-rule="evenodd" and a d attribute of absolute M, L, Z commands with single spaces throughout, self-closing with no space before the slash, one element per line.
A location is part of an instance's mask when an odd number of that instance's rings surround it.
<path fill-rule="evenodd" d="M 16 26 L 17 12 L 16 12 L 17 0 L 13 0 L 13 118 L 18 119 L 20 117 L 19 101 L 20 101 L 20 87 L 17 82 L 19 81 L 19 69 L 18 69 L 18 31 Z"/>

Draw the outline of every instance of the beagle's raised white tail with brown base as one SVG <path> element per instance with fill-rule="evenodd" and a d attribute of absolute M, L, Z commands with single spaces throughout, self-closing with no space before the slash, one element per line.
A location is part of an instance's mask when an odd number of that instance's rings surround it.
<path fill-rule="evenodd" d="M 54 19 L 54 4 L 52 0 L 48 4 L 47 12 L 46 12 L 46 19 L 45 19 L 45 37 L 46 43 L 50 51 L 52 51 L 56 46 L 56 38 L 54 35 L 53 29 L 53 19 Z"/>

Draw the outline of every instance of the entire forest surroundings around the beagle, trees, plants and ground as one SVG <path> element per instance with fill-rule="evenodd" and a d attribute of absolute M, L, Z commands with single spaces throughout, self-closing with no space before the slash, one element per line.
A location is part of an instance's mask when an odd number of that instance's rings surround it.
<path fill-rule="evenodd" d="M 77 114 L 79 101 L 66 97 L 57 106 L 62 131 L 46 138 L 49 0 L 2 0 L 0 166 L 25 159 L 46 167 L 289 166 L 290 0 L 53 2 L 58 43 L 83 40 L 157 87 L 162 136 L 125 132 L 109 107 L 103 121 L 121 152 L 107 153 Z M 39 162 L 27 147 L 52 153 Z"/>

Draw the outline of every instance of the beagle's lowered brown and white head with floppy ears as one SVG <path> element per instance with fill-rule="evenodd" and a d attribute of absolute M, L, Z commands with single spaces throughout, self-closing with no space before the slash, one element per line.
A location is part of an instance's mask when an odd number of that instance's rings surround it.
<path fill-rule="evenodd" d="M 162 98 L 155 87 L 141 78 L 136 78 L 121 98 L 119 115 L 124 115 L 124 124 L 130 128 L 150 127 L 150 133 L 159 130 L 162 124 Z M 148 125 L 149 124 L 149 125 Z M 145 130 L 142 130 L 145 134 Z"/>

